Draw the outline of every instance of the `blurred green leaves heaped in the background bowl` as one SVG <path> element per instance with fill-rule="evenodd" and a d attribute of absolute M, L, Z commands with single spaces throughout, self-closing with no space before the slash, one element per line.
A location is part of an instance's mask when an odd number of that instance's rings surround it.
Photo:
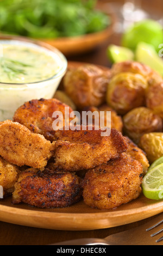
<path fill-rule="evenodd" d="M 96 0 L 0 0 L 0 31 L 32 38 L 99 32 L 110 20 Z"/>

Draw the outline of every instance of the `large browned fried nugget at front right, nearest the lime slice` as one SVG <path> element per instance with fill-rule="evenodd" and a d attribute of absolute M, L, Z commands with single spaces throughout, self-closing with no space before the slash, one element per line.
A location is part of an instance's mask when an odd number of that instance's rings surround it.
<path fill-rule="evenodd" d="M 101 210 L 114 209 L 139 197 L 142 165 L 127 155 L 90 169 L 83 180 L 84 203 Z"/>

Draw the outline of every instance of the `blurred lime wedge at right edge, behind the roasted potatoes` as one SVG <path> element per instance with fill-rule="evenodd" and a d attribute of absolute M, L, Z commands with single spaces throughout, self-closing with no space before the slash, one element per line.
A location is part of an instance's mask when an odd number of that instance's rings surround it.
<path fill-rule="evenodd" d="M 163 59 L 155 51 L 152 45 L 140 42 L 137 45 L 135 58 L 138 62 L 151 66 L 151 68 L 163 76 Z"/>

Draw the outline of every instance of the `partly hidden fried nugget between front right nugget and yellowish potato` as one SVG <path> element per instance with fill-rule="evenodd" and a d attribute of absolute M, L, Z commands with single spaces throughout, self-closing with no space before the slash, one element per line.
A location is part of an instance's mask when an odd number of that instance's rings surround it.
<path fill-rule="evenodd" d="M 128 156 L 132 157 L 134 160 L 139 161 L 142 164 L 143 167 L 143 175 L 145 175 L 149 168 L 149 161 L 147 159 L 146 153 L 137 147 L 131 139 L 127 138 L 127 142 L 129 144 L 129 147 L 127 151 L 123 154 L 127 154 Z"/>

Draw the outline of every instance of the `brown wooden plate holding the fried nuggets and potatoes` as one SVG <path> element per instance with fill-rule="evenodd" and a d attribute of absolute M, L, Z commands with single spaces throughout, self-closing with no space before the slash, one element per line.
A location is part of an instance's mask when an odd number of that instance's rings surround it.
<path fill-rule="evenodd" d="M 70 62 L 68 67 L 82 64 Z M 109 211 L 92 209 L 83 201 L 64 209 L 39 209 L 25 204 L 12 205 L 10 197 L 0 200 L 0 221 L 57 230 L 111 228 L 140 221 L 162 211 L 163 200 L 147 199 L 143 194 L 136 200 Z"/>

